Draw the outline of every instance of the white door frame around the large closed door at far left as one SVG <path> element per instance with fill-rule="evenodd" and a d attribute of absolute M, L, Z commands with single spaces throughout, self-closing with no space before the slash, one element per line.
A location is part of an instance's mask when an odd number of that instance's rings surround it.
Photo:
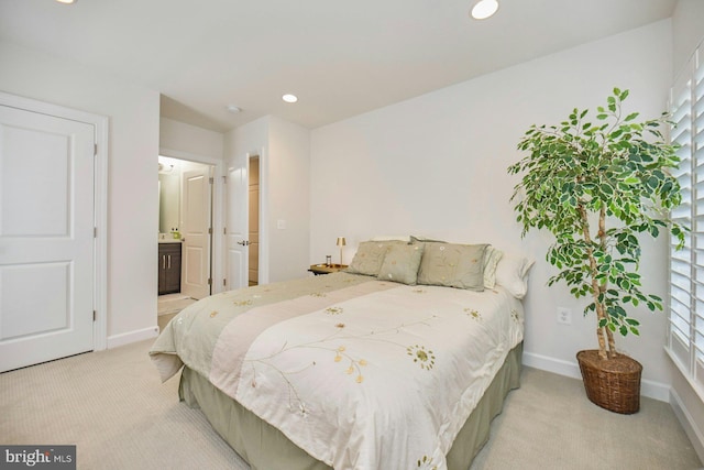
<path fill-rule="evenodd" d="M 94 283 L 92 345 L 95 351 L 108 347 L 108 117 L 66 108 L 32 98 L 0 91 L 0 105 L 41 114 L 91 124 L 95 129 L 96 156 L 94 181 Z"/>

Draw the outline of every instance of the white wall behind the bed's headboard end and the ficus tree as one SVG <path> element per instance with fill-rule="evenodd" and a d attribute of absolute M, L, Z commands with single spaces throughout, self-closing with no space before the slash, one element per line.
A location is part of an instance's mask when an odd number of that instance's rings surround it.
<path fill-rule="evenodd" d="M 575 353 L 596 348 L 595 318 L 564 286 L 547 288 L 552 238 L 520 227 L 508 200 L 518 178 L 506 167 L 531 123 L 558 123 L 574 107 L 605 103 L 613 87 L 630 89 L 628 110 L 644 118 L 666 109 L 671 79 L 671 23 L 661 21 L 546 56 L 311 133 L 310 262 L 374 234 L 421 234 L 454 242 L 491 242 L 537 259 L 530 276 L 525 360 L 579 375 Z M 593 114 L 592 114 L 593 116 Z M 667 240 L 645 245 L 646 292 L 667 293 Z M 556 307 L 572 308 L 559 325 Z M 641 338 L 620 348 L 644 363 L 644 393 L 667 400 L 671 364 L 663 353 L 666 316 L 634 311 Z"/>

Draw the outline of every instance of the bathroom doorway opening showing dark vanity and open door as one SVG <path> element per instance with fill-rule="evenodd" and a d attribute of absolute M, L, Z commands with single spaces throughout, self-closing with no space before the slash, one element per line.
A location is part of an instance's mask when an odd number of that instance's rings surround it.
<path fill-rule="evenodd" d="M 212 288 L 213 165 L 158 157 L 160 325 Z"/>

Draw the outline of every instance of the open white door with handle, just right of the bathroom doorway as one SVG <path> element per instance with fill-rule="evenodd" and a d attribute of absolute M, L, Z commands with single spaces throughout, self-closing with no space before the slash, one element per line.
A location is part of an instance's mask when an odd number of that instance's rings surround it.
<path fill-rule="evenodd" d="M 228 170 L 228 204 L 226 217 L 227 288 L 249 285 L 249 161 L 244 155 Z"/>

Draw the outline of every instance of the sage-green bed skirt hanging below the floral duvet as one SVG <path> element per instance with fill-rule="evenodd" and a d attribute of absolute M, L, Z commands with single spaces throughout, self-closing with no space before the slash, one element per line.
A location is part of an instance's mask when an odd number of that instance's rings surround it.
<path fill-rule="evenodd" d="M 487 441 L 492 419 L 502 412 L 504 398 L 519 386 L 521 356 L 522 343 L 508 353 L 448 452 L 449 470 L 469 469 Z M 216 431 L 253 470 L 330 469 L 188 368 L 182 373 L 178 394 L 188 406 L 200 407 Z"/>

